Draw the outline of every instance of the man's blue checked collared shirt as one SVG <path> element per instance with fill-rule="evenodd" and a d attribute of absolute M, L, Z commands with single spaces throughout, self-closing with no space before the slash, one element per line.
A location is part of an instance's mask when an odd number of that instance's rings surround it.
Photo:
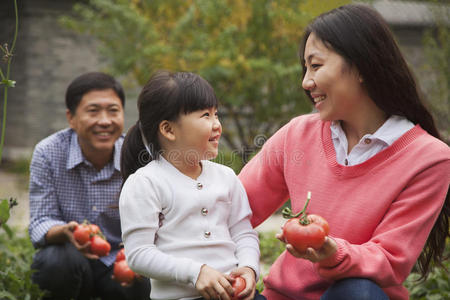
<path fill-rule="evenodd" d="M 30 166 L 31 242 L 46 245 L 45 235 L 55 226 L 88 220 L 97 224 L 111 244 L 107 266 L 114 260 L 121 240 L 119 219 L 120 149 L 123 136 L 114 145 L 114 161 L 97 171 L 87 161 L 72 129 L 64 129 L 39 142 Z"/>

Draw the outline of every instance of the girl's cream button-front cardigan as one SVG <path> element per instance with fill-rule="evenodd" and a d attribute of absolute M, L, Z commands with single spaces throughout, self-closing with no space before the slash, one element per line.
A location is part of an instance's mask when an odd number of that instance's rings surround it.
<path fill-rule="evenodd" d="M 248 266 L 259 274 L 258 235 L 234 171 L 202 161 L 194 180 L 164 158 L 125 182 L 120 219 L 130 267 L 151 278 L 151 299 L 196 298 L 203 264 L 227 273 Z"/>

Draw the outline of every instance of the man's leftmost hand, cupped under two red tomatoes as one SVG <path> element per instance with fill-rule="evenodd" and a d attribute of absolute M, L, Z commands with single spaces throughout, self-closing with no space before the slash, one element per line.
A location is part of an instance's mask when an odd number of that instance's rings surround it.
<path fill-rule="evenodd" d="M 73 237 L 73 231 L 78 226 L 78 223 L 75 221 L 71 221 L 64 225 L 55 225 L 49 229 L 47 234 L 45 235 L 45 239 L 49 244 L 63 244 L 70 242 L 75 248 L 78 249 L 86 258 L 89 259 L 98 259 L 99 257 L 95 254 L 89 252 L 91 247 L 91 242 L 87 242 L 84 245 L 78 244 L 78 242 Z"/>

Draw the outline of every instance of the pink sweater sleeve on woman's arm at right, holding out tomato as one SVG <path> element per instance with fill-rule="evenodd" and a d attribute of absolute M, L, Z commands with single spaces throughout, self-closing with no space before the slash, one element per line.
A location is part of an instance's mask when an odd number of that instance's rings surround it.
<path fill-rule="evenodd" d="M 442 209 L 449 170 L 450 161 L 443 161 L 417 174 L 392 203 L 368 242 L 354 245 L 334 238 L 337 251 L 316 264 L 318 273 L 330 280 L 371 278 L 381 287 L 401 284 Z"/>

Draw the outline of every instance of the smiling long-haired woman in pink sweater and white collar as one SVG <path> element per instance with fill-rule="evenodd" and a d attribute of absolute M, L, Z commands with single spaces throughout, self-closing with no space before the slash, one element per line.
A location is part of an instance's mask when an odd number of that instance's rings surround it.
<path fill-rule="evenodd" d="M 322 248 L 286 250 L 267 299 L 408 299 L 449 235 L 450 149 L 385 21 L 364 5 L 319 16 L 301 44 L 302 86 L 318 113 L 293 119 L 239 175 L 258 226 L 291 200 L 325 218 Z M 282 225 L 282 224 L 280 224 Z M 282 234 L 278 238 L 284 240 Z"/>

